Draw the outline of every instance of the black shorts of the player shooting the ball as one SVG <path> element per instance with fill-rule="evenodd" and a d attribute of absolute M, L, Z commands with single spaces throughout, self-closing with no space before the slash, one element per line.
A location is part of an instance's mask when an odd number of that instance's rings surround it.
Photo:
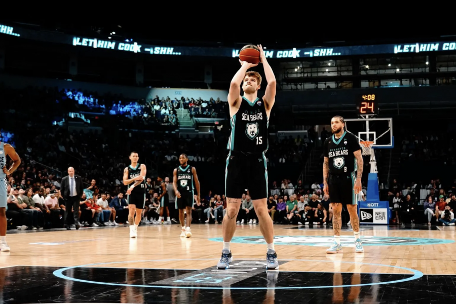
<path fill-rule="evenodd" d="M 248 189 L 252 200 L 268 198 L 268 168 L 266 157 L 261 154 L 244 154 L 230 151 L 226 158 L 225 196 L 242 198 Z"/>

